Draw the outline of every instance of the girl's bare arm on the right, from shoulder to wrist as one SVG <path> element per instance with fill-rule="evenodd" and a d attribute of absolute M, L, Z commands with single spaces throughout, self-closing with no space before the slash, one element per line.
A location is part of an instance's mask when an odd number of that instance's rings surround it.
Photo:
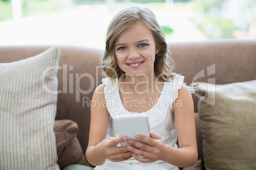
<path fill-rule="evenodd" d="M 187 86 L 183 85 L 178 94 L 176 101 L 181 101 L 181 105 L 173 105 L 173 109 L 180 148 L 167 147 L 169 154 L 164 154 L 163 160 L 174 166 L 190 167 L 197 161 L 194 104 Z"/>

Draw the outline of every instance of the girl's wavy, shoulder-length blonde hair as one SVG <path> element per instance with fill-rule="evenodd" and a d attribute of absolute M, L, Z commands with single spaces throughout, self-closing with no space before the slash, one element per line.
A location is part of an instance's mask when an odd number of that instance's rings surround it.
<path fill-rule="evenodd" d="M 136 22 L 143 22 L 152 32 L 155 39 L 155 46 L 160 51 L 155 55 L 154 73 L 160 76 L 164 81 L 170 81 L 174 78 L 172 74 L 174 69 L 174 61 L 171 53 L 167 50 L 167 43 L 162 29 L 155 18 L 155 15 L 148 8 L 139 8 L 137 6 L 127 8 L 120 11 L 111 20 L 108 25 L 106 34 L 106 48 L 103 56 L 103 70 L 113 82 L 116 77 L 124 75 L 125 72 L 117 65 L 117 57 L 115 55 L 115 40 L 122 32 L 134 25 Z M 169 64 L 167 65 L 167 59 Z"/>

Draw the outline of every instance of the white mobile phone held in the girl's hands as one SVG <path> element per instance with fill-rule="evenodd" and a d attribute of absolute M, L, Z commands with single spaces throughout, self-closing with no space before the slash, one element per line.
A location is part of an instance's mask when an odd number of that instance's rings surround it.
<path fill-rule="evenodd" d="M 115 125 L 118 136 L 127 136 L 128 139 L 133 140 L 136 140 L 136 134 L 150 136 L 150 128 L 146 114 L 118 115 L 115 119 Z M 127 141 L 121 143 L 122 147 L 127 145 L 129 145 Z"/>

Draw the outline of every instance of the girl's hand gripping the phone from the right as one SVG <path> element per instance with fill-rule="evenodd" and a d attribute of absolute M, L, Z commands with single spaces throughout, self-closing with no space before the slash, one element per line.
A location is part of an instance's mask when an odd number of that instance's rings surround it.
<path fill-rule="evenodd" d="M 166 145 L 159 134 L 150 132 L 150 137 L 136 135 L 136 139 L 139 141 L 131 139 L 127 141 L 130 144 L 127 149 L 132 152 L 132 157 L 143 163 L 161 160 Z"/>

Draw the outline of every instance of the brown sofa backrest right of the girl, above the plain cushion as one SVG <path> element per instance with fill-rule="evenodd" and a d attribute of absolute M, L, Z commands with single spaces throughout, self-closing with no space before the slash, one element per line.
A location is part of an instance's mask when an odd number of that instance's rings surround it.
<path fill-rule="evenodd" d="M 256 79 L 256 41 L 211 40 L 169 43 L 174 72 L 185 76 L 185 83 L 229 84 Z M 198 98 L 193 95 L 197 112 Z"/>

